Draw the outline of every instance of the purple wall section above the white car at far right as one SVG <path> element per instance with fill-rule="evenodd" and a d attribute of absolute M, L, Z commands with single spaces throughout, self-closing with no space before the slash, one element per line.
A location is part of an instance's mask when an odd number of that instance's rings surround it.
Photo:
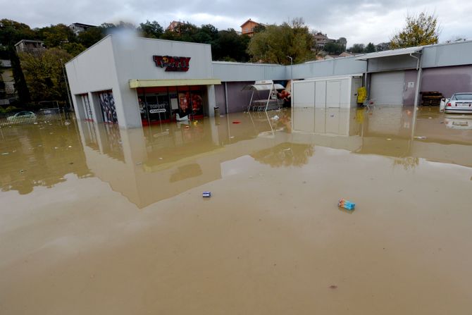
<path fill-rule="evenodd" d="M 423 69 L 421 91 L 438 91 L 445 97 L 472 92 L 472 65 Z"/>

